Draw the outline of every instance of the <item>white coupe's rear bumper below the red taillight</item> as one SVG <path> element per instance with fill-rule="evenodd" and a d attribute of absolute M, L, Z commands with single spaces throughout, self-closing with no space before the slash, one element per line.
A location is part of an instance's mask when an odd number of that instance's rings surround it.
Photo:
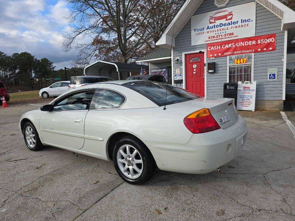
<path fill-rule="evenodd" d="M 234 159 L 247 141 L 247 125 L 239 116 L 232 126 L 208 133 L 193 134 L 186 144 L 144 143 L 161 170 L 203 174 Z M 243 144 L 241 144 L 243 138 Z"/>

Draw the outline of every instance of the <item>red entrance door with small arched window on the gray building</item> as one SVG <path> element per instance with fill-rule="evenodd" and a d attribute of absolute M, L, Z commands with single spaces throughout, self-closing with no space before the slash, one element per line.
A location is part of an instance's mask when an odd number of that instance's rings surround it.
<path fill-rule="evenodd" d="M 185 56 L 186 90 L 202 97 L 205 96 L 204 53 Z"/>

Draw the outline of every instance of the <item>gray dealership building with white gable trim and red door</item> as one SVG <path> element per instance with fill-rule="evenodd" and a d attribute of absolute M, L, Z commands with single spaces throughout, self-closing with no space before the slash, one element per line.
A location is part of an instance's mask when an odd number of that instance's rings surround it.
<path fill-rule="evenodd" d="M 169 83 L 208 98 L 256 81 L 255 110 L 282 110 L 295 93 L 294 35 L 295 12 L 277 0 L 186 0 L 160 48 L 136 62 L 167 67 Z"/>

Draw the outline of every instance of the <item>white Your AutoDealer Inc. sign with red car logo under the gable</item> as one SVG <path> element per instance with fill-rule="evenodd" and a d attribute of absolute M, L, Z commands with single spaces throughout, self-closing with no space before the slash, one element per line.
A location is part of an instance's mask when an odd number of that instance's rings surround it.
<path fill-rule="evenodd" d="M 256 3 L 191 17 L 191 45 L 255 36 Z"/>

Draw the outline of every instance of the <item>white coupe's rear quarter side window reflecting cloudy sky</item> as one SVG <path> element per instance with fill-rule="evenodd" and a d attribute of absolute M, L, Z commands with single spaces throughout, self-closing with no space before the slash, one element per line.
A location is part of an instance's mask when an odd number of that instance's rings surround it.
<path fill-rule="evenodd" d="M 125 101 L 125 97 L 113 90 L 96 89 L 90 110 L 119 109 Z"/>

